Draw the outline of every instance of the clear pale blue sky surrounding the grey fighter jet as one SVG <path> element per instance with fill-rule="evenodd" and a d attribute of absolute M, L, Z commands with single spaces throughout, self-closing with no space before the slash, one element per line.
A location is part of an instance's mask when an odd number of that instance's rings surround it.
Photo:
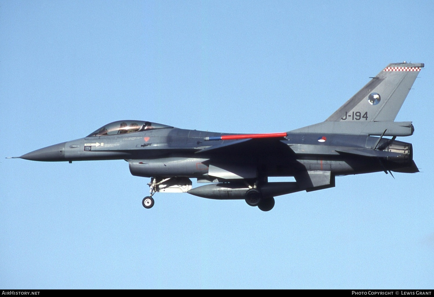
<path fill-rule="evenodd" d="M 0 1 L 0 287 L 432 288 L 430 1 Z M 388 63 L 421 173 L 244 201 L 159 193 L 128 163 L 4 157 L 122 119 L 216 132 L 325 120 Z"/>

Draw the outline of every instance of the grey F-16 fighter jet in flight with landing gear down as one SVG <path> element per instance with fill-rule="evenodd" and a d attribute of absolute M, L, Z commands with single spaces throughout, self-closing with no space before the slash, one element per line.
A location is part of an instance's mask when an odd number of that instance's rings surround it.
<path fill-rule="evenodd" d="M 324 122 L 289 132 L 216 133 L 124 120 L 15 158 L 69 163 L 124 159 L 132 175 L 151 178 L 145 208 L 154 205 L 156 192 L 187 192 L 244 199 L 269 211 L 275 196 L 334 187 L 336 175 L 418 172 L 411 143 L 396 140 L 412 135 L 414 127 L 394 120 L 422 67 L 389 64 Z M 268 181 L 286 176 L 295 181 Z M 191 178 L 208 184 L 192 188 Z"/>

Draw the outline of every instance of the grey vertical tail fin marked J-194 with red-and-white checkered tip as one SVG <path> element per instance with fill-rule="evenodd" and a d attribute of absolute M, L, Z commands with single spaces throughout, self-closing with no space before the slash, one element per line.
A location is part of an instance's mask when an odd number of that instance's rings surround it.
<path fill-rule="evenodd" d="M 392 63 L 325 121 L 393 122 L 424 63 Z"/>

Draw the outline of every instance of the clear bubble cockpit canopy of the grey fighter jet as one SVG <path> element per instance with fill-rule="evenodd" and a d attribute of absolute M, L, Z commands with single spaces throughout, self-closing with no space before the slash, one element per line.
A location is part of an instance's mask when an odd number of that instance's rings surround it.
<path fill-rule="evenodd" d="M 103 135 L 116 135 L 125 134 L 138 131 L 173 128 L 172 126 L 162 125 L 158 123 L 143 122 L 143 121 L 117 121 L 104 125 L 95 132 L 90 133 L 89 136 L 103 136 Z"/>

